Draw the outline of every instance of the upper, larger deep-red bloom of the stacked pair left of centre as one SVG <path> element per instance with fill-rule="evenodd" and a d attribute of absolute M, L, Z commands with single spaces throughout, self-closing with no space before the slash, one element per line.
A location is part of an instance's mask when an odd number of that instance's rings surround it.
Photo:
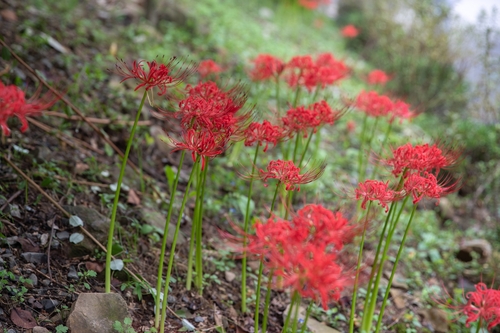
<path fill-rule="evenodd" d="M 189 87 L 188 97 L 179 103 L 176 116 L 184 128 L 207 129 L 212 132 L 237 132 L 250 119 L 250 112 L 240 112 L 247 99 L 243 88 L 236 86 L 221 90 L 215 82 L 208 81 Z"/>

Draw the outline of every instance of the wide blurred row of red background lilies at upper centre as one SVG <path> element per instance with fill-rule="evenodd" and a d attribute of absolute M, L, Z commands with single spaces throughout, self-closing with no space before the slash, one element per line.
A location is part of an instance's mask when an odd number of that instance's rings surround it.
<path fill-rule="evenodd" d="M 310 55 L 296 56 L 287 63 L 261 54 L 253 62 L 254 68 L 249 73 L 253 81 L 277 80 L 283 72 L 287 72 L 285 79 L 290 87 L 301 86 L 308 91 L 335 84 L 350 72 L 343 61 L 335 59 L 330 53 L 320 54 L 316 59 Z"/>

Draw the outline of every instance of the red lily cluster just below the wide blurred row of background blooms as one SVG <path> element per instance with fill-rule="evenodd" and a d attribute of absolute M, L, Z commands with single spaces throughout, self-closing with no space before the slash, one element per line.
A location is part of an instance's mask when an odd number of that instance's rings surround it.
<path fill-rule="evenodd" d="M 332 110 L 326 101 L 320 101 L 307 108 L 299 106 L 289 109 L 281 121 L 290 137 L 302 133 L 306 138 L 310 130 L 315 133 L 323 125 L 333 125 L 342 115 L 342 112 Z"/>

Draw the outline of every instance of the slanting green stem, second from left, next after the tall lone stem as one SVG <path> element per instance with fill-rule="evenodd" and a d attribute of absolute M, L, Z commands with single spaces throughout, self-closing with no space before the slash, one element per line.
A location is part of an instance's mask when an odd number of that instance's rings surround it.
<path fill-rule="evenodd" d="M 165 219 L 165 226 L 163 227 L 163 239 L 161 242 L 161 252 L 160 252 L 160 262 L 158 264 L 158 275 L 156 282 L 156 300 L 155 300 L 155 327 L 158 327 L 160 323 L 160 291 L 162 289 L 162 276 L 163 276 L 163 261 L 165 260 L 165 252 L 167 249 L 167 238 L 168 238 L 168 227 L 170 225 L 170 218 L 172 217 L 172 211 L 174 208 L 175 194 L 177 192 L 177 185 L 179 184 L 179 178 L 181 174 L 182 164 L 184 163 L 184 156 L 186 156 L 186 151 L 183 150 L 181 153 L 181 158 L 179 160 L 179 166 L 177 169 L 177 174 L 175 175 L 174 184 L 172 186 L 172 193 L 170 193 L 170 202 L 168 203 L 167 218 Z M 165 281 L 168 284 L 168 281 Z"/>

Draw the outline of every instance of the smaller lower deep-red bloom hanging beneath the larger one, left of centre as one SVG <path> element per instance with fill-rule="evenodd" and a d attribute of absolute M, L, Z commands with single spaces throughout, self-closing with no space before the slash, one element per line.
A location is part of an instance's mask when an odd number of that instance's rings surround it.
<path fill-rule="evenodd" d="M 184 141 L 172 142 L 175 148 L 172 150 L 189 150 L 191 151 L 193 161 L 196 161 L 196 156 L 201 156 L 201 169 L 205 168 L 207 158 L 215 157 L 222 154 L 226 149 L 226 144 L 229 141 L 226 133 L 214 134 L 208 130 L 194 130 L 192 128 L 184 132 Z"/>

